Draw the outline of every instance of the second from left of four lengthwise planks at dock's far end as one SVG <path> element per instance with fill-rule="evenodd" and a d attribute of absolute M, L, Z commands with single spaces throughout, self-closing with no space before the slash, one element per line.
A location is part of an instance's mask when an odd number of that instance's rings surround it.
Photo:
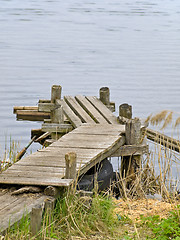
<path fill-rule="evenodd" d="M 79 105 L 74 97 L 65 96 L 66 103 L 71 107 L 74 113 L 79 116 L 83 123 L 95 123 L 95 121 L 87 114 L 87 112 Z"/>

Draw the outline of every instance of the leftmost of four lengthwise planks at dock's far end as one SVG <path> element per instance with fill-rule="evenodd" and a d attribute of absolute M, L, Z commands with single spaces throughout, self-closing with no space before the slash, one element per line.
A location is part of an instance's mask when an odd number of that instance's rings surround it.
<path fill-rule="evenodd" d="M 56 100 L 56 102 L 63 107 L 64 114 L 68 120 L 72 123 L 73 127 L 79 127 L 82 125 L 79 117 L 72 111 L 72 109 L 67 105 L 64 100 Z"/>

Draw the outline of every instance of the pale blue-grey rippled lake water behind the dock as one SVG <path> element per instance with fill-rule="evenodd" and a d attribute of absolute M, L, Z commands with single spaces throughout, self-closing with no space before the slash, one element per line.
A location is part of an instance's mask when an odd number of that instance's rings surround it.
<path fill-rule="evenodd" d="M 41 123 L 16 121 L 13 106 L 63 95 L 98 95 L 147 117 L 179 112 L 179 0 L 0 0 L 0 148 L 30 140 Z M 34 144 L 35 145 L 35 144 Z"/>

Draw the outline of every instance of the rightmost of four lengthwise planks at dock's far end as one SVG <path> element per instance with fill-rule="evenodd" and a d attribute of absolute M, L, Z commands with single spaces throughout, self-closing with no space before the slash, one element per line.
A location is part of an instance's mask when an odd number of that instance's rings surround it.
<path fill-rule="evenodd" d="M 87 100 L 101 113 L 101 115 L 111 124 L 117 124 L 116 116 L 94 96 L 86 96 Z"/>

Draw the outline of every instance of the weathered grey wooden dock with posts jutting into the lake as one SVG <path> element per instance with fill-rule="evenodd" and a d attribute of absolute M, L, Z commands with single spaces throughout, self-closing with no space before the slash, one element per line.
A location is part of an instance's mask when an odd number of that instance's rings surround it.
<path fill-rule="evenodd" d="M 125 145 L 130 133 L 125 125 L 118 122 L 112 110 L 114 103 L 109 100 L 107 88 L 102 89 L 100 99 L 94 96 L 65 96 L 61 99 L 60 86 L 53 86 L 51 100 L 40 100 L 38 108 L 15 108 L 17 115 L 20 111 L 26 117 L 29 116 L 29 111 L 36 112 L 34 120 L 37 116 L 46 116 L 41 130 L 42 133 L 51 135 L 50 142 L 53 143 L 22 158 L 2 172 L 0 184 L 68 187 L 74 179 L 67 178 L 67 153 L 76 154 L 76 177 L 107 157 L 141 155 L 147 152 L 147 146 L 140 144 L 139 135 L 136 136 L 140 133 L 139 122 L 138 131 L 135 129 L 129 145 Z M 47 119 L 49 117 L 51 119 Z M 32 119 L 33 115 L 30 120 Z M 131 126 L 132 131 L 133 129 Z M 6 198 L 9 199 L 7 202 Z M 0 193 L 0 231 L 19 221 L 23 214 L 31 212 L 37 203 L 43 205 L 46 198 L 43 194 L 30 199 L 11 196 L 9 192 Z"/>

